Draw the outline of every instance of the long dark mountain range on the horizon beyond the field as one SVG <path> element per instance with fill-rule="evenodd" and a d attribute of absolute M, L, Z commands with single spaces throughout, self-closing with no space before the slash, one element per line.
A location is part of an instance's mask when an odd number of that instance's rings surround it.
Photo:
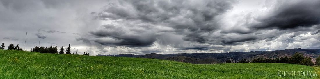
<path fill-rule="evenodd" d="M 138 58 L 153 58 L 161 60 L 180 61 L 195 64 L 211 64 L 221 63 L 231 60 L 233 62 L 247 59 L 251 61 L 255 58 L 278 58 L 288 56 L 291 57 L 294 53 L 299 52 L 304 56 L 311 57 L 315 62 L 320 54 L 320 49 L 286 49 L 276 51 L 250 51 L 250 52 L 230 52 L 230 53 L 180 53 L 180 54 L 118 54 L 118 55 L 98 55 L 98 56 L 116 56 L 116 57 L 138 57 Z"/>

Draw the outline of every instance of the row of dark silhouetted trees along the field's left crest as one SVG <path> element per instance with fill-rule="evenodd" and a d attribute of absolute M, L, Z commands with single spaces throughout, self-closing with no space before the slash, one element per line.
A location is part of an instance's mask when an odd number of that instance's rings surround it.
<path fill-rule="evenodd" d="M 4 50 L 4 43 L 2 43 L 2 45 L 0 46 L 1 50 Z M 20 48 L 19 44 L 15 47 L 13 44 L 10 44 L 8 46 L 7 50 L 19 50 L 19 51 L 23 51 L 22 48 Z M 66 51 L 65 51 L 66 50 Z M 39 53 L 50 53 L 50 54 L 71 54 L 71 47 L 70 44 L 68 46 L 68 48 L 64 49 L 63 46 L 60 47 L 59 51 L 57 46 L 51 46 L 51 47 L 35 47 L 35 48 L 31 48 L 30 50 L 31 52 L 39 52 Z M 73 54 L 78 54 L 78 52 L 73 53 Z M 89 55 L 89 53 L 85 53 L 82 55 Z"/>

